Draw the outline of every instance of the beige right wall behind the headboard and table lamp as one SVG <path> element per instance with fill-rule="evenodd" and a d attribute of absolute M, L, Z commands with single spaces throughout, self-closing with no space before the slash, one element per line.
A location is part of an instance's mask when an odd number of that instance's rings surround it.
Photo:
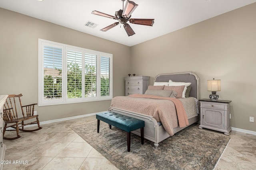
<path fill-rule="evenodd" d="M 256 3 L 135 45 L 131 52 L 132 72 L 150 76 L 150 84 L 157 74 L 192 71 L 200 78 L 200 98 L 209 98 L 206 80 L 220 79 L 219 99 L 232 100 L 231 126 L 256 131 Z"/>

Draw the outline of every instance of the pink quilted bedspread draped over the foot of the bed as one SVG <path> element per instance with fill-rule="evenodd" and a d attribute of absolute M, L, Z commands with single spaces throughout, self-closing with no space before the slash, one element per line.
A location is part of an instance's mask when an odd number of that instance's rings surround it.
<path fill-rule="evenodd" d="M 151 115 L 162 123 L 170 136 L 174 135 L 173 128 L 188 125 L 188 117 L 182 102 L 176 98 L 145 94 L 117 96 L 112 99 L 111 107 Z"/>

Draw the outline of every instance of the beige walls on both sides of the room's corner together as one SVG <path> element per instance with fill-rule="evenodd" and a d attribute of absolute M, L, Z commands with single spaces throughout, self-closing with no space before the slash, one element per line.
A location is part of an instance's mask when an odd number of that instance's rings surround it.
<path fill-rule="evenodd" d="M 24 104 L 38 101 L 38 38 L 112 53 L 114 96 L 124 95 L 129 72 L 154 77 L 195 72 L 200 98 L 206 80 L 221 79 L 222 100 L 232 100 L 231 126 L 256 131 L 256 3 L 145 43 L 127 47 L 0 8 L 0 94 L 22 93 Z M 124 64 L 126 63 L 126 64 Z M 26 98 L 26 99 L 25 99 Z M 37 107 L 40 121 L 108 109 L 110 100 Z"/>

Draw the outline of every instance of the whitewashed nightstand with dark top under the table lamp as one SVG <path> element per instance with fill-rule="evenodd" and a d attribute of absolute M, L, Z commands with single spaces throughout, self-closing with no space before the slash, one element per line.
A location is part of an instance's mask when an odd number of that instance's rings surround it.
<path fill-rule="evenodd" d="M 199 129 L 207 128 L 229 135 L 230 127 L 230 100 L 201 99 Z"/>

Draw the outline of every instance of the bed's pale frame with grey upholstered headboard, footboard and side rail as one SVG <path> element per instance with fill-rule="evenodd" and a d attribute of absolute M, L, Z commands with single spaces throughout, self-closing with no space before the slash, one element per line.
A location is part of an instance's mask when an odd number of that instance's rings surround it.
<path fill-rule="evenodd" d="M 169 82 L 169 80 L 172 80 L 174 82 L 191 82 L 192 84 L 190 86 L 192 86 L 192 88 L 190 91 L 190 96 L 198 99 L 199 78 L 195 73 L 182 72 L 182 73 L 171 73 L 171 74 L 158 74 L 154 79 L 155 82 Z M 128 110 L 122 110 L 115 107 L 110 107 L 108 110 L 114 113 L 127 115 L 129 117 L 134 117 L 134 118 L 145 121 L 144 138 L 154 142 L 154 146 L 156 149 L 159 146 L 158 143 L 170 137 L 170 135 L 165 131 L 164 127 L 162 125 L 158 125 L 156 119 L 154 119 L 153 116 L 144 115 L 141 113 L 136 113 Z M 188 119 L 189 125 L 192 125 L 197 121 L 198 121 L 198 116 Z M 174 133 L 177 133 L 178 131 L 186 127 L 183 127 L 183 128 L 176 127 L 174 128 Z M 132 133 L 140 136 L 140 129 L 132 131 Z"/>

